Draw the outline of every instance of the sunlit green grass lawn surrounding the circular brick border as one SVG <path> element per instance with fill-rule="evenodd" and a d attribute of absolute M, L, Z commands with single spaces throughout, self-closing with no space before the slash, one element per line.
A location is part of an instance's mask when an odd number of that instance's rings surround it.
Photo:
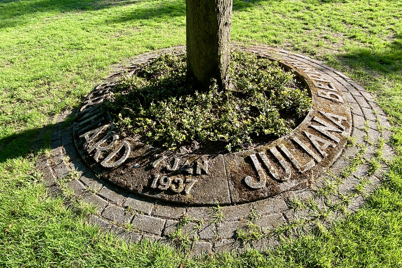
<path fill-rule="evenodd" d="M 189 259 L 99 232 L 85 206 L 47 196 L 36 135 L 111 65 L 185 44 L 185 1 L 0 0 L 0 267 L 402 267 L 402 2 L 233 2 L 233 42 L 321 59 L 390 116 L 396 156 L 364 207 L 328 230 L 239 256 Z"/>

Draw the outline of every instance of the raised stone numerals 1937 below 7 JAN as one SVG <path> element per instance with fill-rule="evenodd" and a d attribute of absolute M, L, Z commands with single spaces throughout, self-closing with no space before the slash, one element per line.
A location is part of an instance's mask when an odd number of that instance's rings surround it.
<path fill-rule="evenodd" d="M 161 176 L 161 175 L 153 175 L 153 180 L 151 183 L 151 188 L 159 189 L 162 191 L 166 191 L 170 189 L 176 194 L 184 193 L 189 194 L 194 184 L 197 180 L 194 179 L 183 179 L 181 178 L 173 178 L 168 176 Z"/>

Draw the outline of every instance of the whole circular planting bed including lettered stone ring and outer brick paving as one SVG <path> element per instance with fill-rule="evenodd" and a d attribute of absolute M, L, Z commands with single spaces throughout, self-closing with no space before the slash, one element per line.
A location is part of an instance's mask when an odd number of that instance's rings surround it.
<path fill-rule="evenodd" d="M 250 57 L 248 66 L 280 70 L 285 82 L 273 86 L 279 90 L 268 88 L 278 79 L 257 75 L 256 83 L 243 80 L 243 89 L 232 81 L 230 90 L 195 94 L 184 79 L 183 87 L 165 81 L 175 90 L 161 91 L 157 81 L 185 72 L 159 72 L 164 69 L 152 62 L 174 53 L 178 61 L 171 66 L 183 68 L 185 47 L 135 57 L 76 111 L 57 117 L 50 156 L 38 160 L 50 191 L 72 189 L 97 207 L 91 222 L 126 239 L 198 253 L 263 249 L 279 235 L 322 228 L 357 209 L 392 157 L 390 126 L 372 96 L 303 55 L 257 46 L 235 50 L 252 53 L 232 53 Z M 159 73 L 148 75 L 152 68 Z M 232 77 L 255 75 L 239 68 L 232 66 Z M 261 79 L 272 84 L 260 86 Z M 72 126 L 63 124 L 67 116 Z"/>

